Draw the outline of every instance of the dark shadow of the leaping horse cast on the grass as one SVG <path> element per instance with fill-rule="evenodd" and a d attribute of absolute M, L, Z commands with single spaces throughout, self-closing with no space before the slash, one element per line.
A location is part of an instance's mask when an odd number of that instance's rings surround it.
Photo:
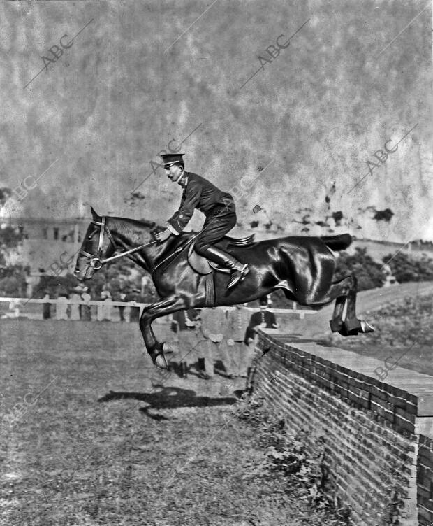
<path fill-rule="evenodd" d="M 161 388 L 157 392 L 124 392 L 124 391 L 110 391 L 98 401 L 112 401 L 122 399 L 133 399 L 144 401 L 149 404 L 148 407 L 140 408 L 142 413 L 145 413 L 154 420 L 169 420 L 163 415 L 152 415 L 149 409 L 177 409 L 181 407 L 214 407 L 214 406 L 229 406 L 235 404 L 236 397 L 198 397 L 196 392 L 192 389 L 170 388 L 164 387 L 161 384 L 156 384 L 155 388 Z"/>

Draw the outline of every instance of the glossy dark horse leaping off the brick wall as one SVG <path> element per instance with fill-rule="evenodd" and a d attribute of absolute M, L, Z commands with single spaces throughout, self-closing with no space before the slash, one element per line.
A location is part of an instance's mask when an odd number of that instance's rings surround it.
<path fill-rule="evenodd" d="M 304 306 L 322 306 L 335 299 L 330 320 L 332 332 L 348 336 L 374 330 L 367 322 L 356 318 L 355 276 L 332 283 L 335 271 L 332 250 L 347 248 L 352 241 L 349 234 L 289 236 L 258 242 L 252 241 L 251 236 L 242 240 L 225 237 L 217 246 L 232 253 L 240 262 L 248 262 L 250 271 L 242 283 L 226 290 L 229 274 L 211 269 L 207 276 L 213 276 L 214 287 L 209 294 L 206 283 L 210 282 L 204 279 L 205 272 L 200 275 L 193 269 L 185 248 L 191 246 L 194 233 L 170 236 L 158 243 L 154 234 L 162 228 L 153 222 L 101 217 L 93 208 L 91 213 L 93 221 L 78 255 L 75 277 L 90 279 L 103 264 L 121 256 L 129 257 L 150 273 L 162 299 L 144 309 L 140 329 L 152 362 L 161 369 L 167 368 L 167 362 L 163 343 L 156 340 L 152 331 L 153 320 L 190 307 L 230 306 L 253 301 L 279 288 L 288 299 Z M 346 317 L 343 319 L 345 304 Z"/>

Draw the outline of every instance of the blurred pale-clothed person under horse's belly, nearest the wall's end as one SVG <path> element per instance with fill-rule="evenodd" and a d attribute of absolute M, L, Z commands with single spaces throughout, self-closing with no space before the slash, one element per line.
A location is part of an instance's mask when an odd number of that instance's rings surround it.
<path fill-rule="evenodd" d="M 245 329 L 249 325 L 249 313 L 241 305 L 227 312 L 226 339 L 235 376 L 247 378 L 254 358 L 254 343 L 245 341 Z M 252 340 L 251 340 L 252 341 Z"/>

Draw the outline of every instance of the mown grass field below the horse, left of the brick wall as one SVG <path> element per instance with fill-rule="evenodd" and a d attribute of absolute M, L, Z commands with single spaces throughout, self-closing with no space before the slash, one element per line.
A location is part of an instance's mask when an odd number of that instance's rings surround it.
<path fill-rule="evenodd" d="M 163 376 L 135 325 L 1 320 L 0 338 L 1 525 L 320 524 L 257 473 L 239 383 Z"/>

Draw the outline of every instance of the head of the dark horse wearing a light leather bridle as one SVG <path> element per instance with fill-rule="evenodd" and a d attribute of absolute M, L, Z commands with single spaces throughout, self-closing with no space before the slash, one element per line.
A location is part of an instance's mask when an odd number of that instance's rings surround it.
<path fill-rule="evenodd" d="M 102 260 L 115 252 L 111 234 L 105 226 L 106 218 L 98 215 L 93 208 L 91 216 L 93 219 L 87 228 L 75 264 L 75 278 L 80 281 L 91 279 L 95 271 L 101 269 Z"/>

